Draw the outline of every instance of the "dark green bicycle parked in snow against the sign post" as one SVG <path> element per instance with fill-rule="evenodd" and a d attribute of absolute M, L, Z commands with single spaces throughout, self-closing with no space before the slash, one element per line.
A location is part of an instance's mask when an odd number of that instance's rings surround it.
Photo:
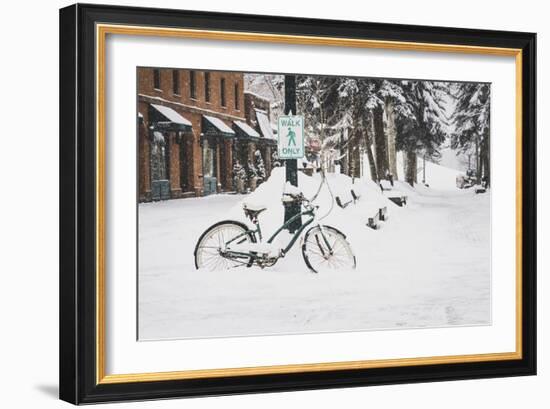
<path fill-rule="evenodd" d="M 246 224 L 235 220 L 223 220 L 210 226 L 200 236 L 195 247 L 195 267 L 224 270 L 243 265 L 257 265 L 261 268 L 273 266 L 288 254 L 298 238 L 315 220 L 315 212 L 319 206 L 312 202 L 317 194 L 312 200 L 308 200 L 302 193 L 283 193 L 283 202 L 300 204 L 301 211 L 280 226 L 265 242 L 258 216 L 267 207 L 244 204 L 244 213 L 252 221 L 254 228 L 250 229 Z M 275 238 L 301 216 L 305 217 L 302 225 L 292 234 L 286 246 L 281 248 L 274 242 Z M 346 236 L 335 227 L 320 223 L 305 232 L 302 255 L 307 267 L 315 273 L 354 269 L 356 265 L 355 255 Z"/>

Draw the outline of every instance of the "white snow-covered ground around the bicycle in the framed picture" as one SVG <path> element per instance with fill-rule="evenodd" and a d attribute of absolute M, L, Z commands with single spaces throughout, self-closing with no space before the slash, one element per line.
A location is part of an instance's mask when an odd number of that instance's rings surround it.
<path fill-rule="evenodd" d="M 139 206 L 139 338 L 200 338 L 489 324 L 490 193 L 454 187 L 457 172 L 430 164 L 430 188 L 397 182 L 399 208 L 371 181 L 355 180 L 356 205 L 332 206 L 323 223 L 347 234 L 357 268 L 313 274 L 299 243 L 274 267 L 195 270 L 199 235 L 223 219 L 246 221 L 242 203 L 265 203 L 265 233 L 283 220 L 284 170 L 251 195 L 215 195 Z M 430 178 L 430 174 L 432 175 Z M 319 176 L 300 175 L 308 197 Z M 433 181 L 433 183 L 432 183 Z M 351 199 L 351 179 L 330 175 Z M 387 193 L 386 193 L 387 195 Z M 319 216 L 331 209 L 323 189 Z M 379 207 L 389 220 L 366 227 Z"/>

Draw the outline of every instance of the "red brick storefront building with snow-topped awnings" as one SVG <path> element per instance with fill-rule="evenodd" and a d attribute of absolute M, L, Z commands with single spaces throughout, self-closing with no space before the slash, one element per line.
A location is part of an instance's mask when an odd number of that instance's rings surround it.
<path fill-rule="evenodd" d="M 137 74 L 140 201 L 233 191 L 235 161 L 245 164 L 256 149 L 267 154 L 268 145 L 276 146 L 272 132 L 264 137 L 265 124 L 245 114 L 242 73 L 139 68 Z"/>

